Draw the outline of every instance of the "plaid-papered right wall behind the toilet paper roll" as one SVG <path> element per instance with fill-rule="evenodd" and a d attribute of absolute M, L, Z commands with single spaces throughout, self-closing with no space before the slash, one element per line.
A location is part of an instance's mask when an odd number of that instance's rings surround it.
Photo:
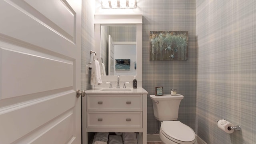
<path fill-rule="evenodd" d="M 256 143 L 256 1 L 196 0 L 196 133 L 208 144 Z M 218 119 L 242 127 L 226 134 Z"/>

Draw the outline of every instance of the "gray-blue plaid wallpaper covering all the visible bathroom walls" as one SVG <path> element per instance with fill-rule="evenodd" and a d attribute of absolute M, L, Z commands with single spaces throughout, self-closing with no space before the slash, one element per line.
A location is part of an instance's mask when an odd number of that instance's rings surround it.
<path fill-rule="evenodd" d="M 143 14 L 143 88 L 184 95 L 179 118 L 208 144 L 256 142 L 256 1 L 137 0 Z M 82 89 L 91 88 L 85 65 L 94 49 L 92 2 L 83 0 Z M 96 12 L 99 6 L 96 2 Z M 98 10 L 100 11 L 100 10 Z M 111 10 L 114 13 L 114 10 Z M 150 31 L 188 31 L 188 60 L 150 61 Z M 242 127 L 226 134 L 216 120 Z M 148 134 L 158 133 L 148 96 Z"/>

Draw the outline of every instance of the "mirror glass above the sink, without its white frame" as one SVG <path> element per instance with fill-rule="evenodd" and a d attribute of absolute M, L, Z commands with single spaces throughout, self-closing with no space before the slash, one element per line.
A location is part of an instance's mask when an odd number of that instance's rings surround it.
<path fill-rule="evenodd" d="M 136 75 L 136 25 L 101 25 L 100 32 L 100 56 L 106 75 Z"/>

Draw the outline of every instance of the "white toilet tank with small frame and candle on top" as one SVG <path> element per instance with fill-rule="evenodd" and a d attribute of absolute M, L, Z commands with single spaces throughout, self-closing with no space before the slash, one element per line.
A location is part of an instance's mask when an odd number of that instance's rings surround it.
<path fill-rule="evenodd" d="M 153 103 L 154 116 L 157 120 L 168 121 L 177 120 L 180 102 L 184 98 L 181 94 L 171 96 L 164 94 L 163 96 L 150 95 Z"/>

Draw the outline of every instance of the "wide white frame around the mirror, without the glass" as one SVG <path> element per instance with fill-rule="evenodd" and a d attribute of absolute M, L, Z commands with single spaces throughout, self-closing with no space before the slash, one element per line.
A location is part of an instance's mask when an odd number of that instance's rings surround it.
<path fill-rule="evenodd" d="M 142 87 L 142 14 L 95 14 L 95 52 L 100 60 L 100 25 L 101 24 L 135 24 L 136 25 L 136 79 L 138 87 Z M 102 82 L 116 82 L 117 76 L 102 76 Z M 132 82 L 133 76 L 120 76 L 121 82 Z M 120 85 L 121 86 L 121 85 Z M 98 87 L 98 86 L 97 86 Z M 100 87 L 100 86 L 99 86 Z M 114 87 L 114 86 L 113 86 Z"/>

